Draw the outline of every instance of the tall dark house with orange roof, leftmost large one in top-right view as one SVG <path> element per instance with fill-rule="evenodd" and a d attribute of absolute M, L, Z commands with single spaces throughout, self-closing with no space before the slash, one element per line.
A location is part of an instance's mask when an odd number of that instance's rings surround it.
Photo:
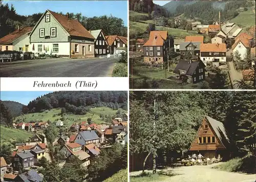
<path fill-rule="evenodd" d="M 143 45 L 144 63 L 163 64 L 170 47 L 167 31 L 151 31 L 150 38 Z"/>

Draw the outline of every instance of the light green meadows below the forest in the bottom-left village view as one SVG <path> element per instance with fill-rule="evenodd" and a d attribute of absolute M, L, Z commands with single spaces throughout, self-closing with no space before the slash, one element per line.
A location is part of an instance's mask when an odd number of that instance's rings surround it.
<path fill-rule="evenodd" d="M 115 115 L 117 110 L 113 110 L 109 107 L 96 107 L 91 108 L 91 111 L 86 113 L 86 115 L 67 115 L 66 126 L 72 125 L 75 121 L 87 121 L 88 118 L 92 118 L 94 123 L 105 123 L 101 118 L 100 115 Z M 122 110 L 123 112 L 126 112 Z M 44 112 L 37 112 L 37 113 L 28 113 L 23 116 L 19 116 L 15 118 L 15 121 L 18 119 L 25 119 L 25 122 L 30 121 L 55 121 L 61 118 L 58 114 L 61 112 L 61 109 L 51 109 Z M 54 117 L 55 115 L 55 117 Z"/>

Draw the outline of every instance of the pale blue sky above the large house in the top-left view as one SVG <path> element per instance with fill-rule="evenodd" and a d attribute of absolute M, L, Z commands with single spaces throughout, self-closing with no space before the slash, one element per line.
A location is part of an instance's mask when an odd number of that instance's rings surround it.
<path fill-rule="evenodd" d="M 13 4 L 19 15 L 44 13 L 47 9 L 54 12 L 82 13 L 83 16 L 108 15 L 121 18 L 127 26 L 127 1 L 3 1 L 3 4 Z"/>

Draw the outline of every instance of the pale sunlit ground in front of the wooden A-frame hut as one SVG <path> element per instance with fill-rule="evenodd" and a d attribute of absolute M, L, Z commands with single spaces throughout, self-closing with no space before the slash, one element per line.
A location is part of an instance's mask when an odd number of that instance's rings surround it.
<path fill-rule="evenodd" d="M 255 175 L 254 174 L 244 174 L 244 173 L 234 173 L 234 172 L 226 172 L 217 169 L 212 169 L 212 167 L 218 166 L 218 164 L 212 164 L 207 166 L 182 166 L 178 168 L 167 168 L 164 170 L 171 170 L 173 174 L 172 177 L 164 178 L 161 182 L 180 182 L 180 181 L 188 181 L 188 182 L 254 182 Z M 161 170 L 157 170 L 161 171 Z M 131 172 L 130 175 L 138 175 L 141 172 Z M 132 180 L 131 180 L 132 181 Z M 150 182 L 150 181 L 148 181 Z"/>

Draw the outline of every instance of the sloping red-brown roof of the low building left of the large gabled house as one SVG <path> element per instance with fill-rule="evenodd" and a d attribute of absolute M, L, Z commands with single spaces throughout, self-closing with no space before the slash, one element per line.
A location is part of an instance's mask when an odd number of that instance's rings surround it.
<path fill-rule="evenodd" d="M 0 38 L 0 43 L 11 44 L 17 38 L 31 32 L 32 29 L 33 29 L 33 27 L 26 27 L 26 28 L 23 28 L 20 30 L 15 30 L 14 32 Z"/>

